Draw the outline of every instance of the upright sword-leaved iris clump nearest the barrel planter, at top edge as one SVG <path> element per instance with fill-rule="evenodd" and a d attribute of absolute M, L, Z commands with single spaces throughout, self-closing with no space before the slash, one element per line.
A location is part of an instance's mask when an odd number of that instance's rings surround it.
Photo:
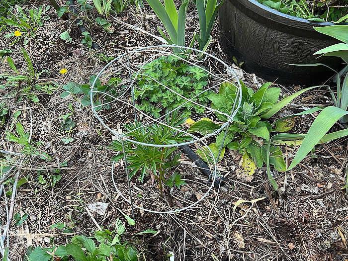
<path fill-rule="evenodd" d="M 220 3 L 216 5 L 217 0 L 196 0 L 200 35 L 195 35 L 195 37 L 198 40 L 199 50 L 205 51 L 210 44 L 212 39 L 210 32 L 213 28 L 217 11 L 223 2 L 224 0 L 221 0 Z"/>

